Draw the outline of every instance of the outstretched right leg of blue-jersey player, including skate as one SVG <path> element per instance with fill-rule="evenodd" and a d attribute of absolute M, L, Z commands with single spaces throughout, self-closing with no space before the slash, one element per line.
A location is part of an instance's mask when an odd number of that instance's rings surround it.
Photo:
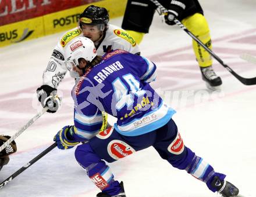
<path fill-rule="evenodd" d="M 187 173 L 207 184 L 212 192 L 218 191 L 227 197 L 238 194 L 239 190 L 225 181 L 225 174 L 215 172 L 209 163 L 184 145 L 174 121 L 169 121 L 167 125 L 158 129 L 157 133 L 158 141 L 153 146 L 173 167 L 186 170 Z"/>

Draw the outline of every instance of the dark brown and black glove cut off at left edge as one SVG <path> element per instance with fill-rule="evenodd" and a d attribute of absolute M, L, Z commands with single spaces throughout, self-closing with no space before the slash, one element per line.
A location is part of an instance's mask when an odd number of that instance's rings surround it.
<path fill-rule="evenodd" d="M 0 147 L 9 138 L 10 138 L 10 136 L 1 136 L 0 135 Z M 3 149 L 0 152 L 0 170 L 2 169 L 3 166 L 8 164 L 8 162 L 10 160 L 9 155 L 15 153 L 16 151 L 17 151 L 16 143 L 15 143 L 15 141 L 12 141 L 12 143 L 10 143 L 10 145 L 8 145 L 5 149 Z"/>

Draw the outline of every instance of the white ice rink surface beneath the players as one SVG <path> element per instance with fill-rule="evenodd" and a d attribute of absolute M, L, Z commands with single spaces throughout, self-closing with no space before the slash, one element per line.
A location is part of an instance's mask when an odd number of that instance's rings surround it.
<path fill-rule="evenodd" d="M 251 0 L 201 0 L 211 29 L 214 52 L 237 74 L 256 76 L 256 65 L 239 59 L 256 55 L 256 2 Z M 112 20 L 120 25 L 122 19 Z M 12 136 L 37 113 L 35 89 L 41 85 L 52 49 L 61 34 L 0 48 L 0 133 Z M 184 143 L 202 156 L 217 172 L 239 187 L 241 194 L 255 197 L 256 86 L 245 86 L 216 60 L 222 92 L 211 93 L 201 80 L 191 48 L 191 38 L 179 27 L 161 23 L 156 15 L 140 45 L 141 52 L 158 65 L 154 87 L 176 109 L 173 119 Z M 56 114 L 41 116 L 16 139 L 18 151 L 0 172 L 5 180 L 53 143 L 65 125 L 73 124 L 70 90 L 66 76 L 59 86 L 63 106 Z M 162 160 L 153 148 L 109 164 L 117 180 L 125 183 L 129 197 L 217 196 L 204 183 Z M 88 196 L 99 190 L 74 158 L 74 148 L 55 148 L 0 189 L 0 196 Z"/>

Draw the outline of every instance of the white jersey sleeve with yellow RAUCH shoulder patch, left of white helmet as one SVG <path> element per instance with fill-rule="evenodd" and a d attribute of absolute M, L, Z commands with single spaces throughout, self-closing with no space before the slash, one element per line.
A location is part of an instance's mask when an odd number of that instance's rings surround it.
<path fill-rule="evenodd" d="M 71 41 L 73 38 L 81 36 L 83 36 L 83 34 L 81 34 L 81 30 L 79 30 L 79 28 L 73 28 L 72 30 L 63 34 L 63 36 L 59 39 L 59 42 L 55 46 L 47 68 L 42 76 L 42 83 L 44 85 L 49 85 L 54 88 L 58 87 L 59 83 L 62 81 L 66 72 L 68 71 L 68 68 L 66 67 L 64 49 L 69 41 Z M 75 71 L 70 71 L 70 75 L 73 78 L 79 78 L 79 75 Z"/>

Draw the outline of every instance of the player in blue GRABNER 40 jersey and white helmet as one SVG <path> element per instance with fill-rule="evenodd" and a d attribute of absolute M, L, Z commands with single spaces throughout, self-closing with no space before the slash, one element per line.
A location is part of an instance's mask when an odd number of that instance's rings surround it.
<path fill-rule="evenodd" d="M 74 125 L 54 137 L 58 148 L 78 145 L 77 162 L 101 189 L 98 197 L 125 197 L 123 182 L 116 181 L 106 162 L 115 162 L 136 151 L 154 147 L 162 159 L 203 181 L 212 192 L 237 196 L 239 189 L 215 172 L 203 158 L 184 145 L 169 108 L 150 86 L 156 65 L 145 57 L 123 50 L 97 56 L 88 38 L 76 38 L 65 51 L 67 63 L 85 68 L 73 87 Z M 102 112 L 117 118 L 113 127 L 99 132 Z"/>

